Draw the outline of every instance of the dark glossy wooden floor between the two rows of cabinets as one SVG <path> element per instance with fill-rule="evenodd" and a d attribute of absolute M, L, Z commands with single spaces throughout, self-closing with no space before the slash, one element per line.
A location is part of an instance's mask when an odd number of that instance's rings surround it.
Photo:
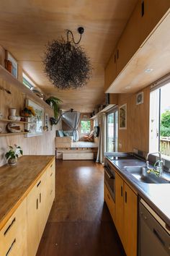
<path fill-rule="evenodd" d="M 37 256 L 124 256 L 103 198 L 103 168 L 57 161 L 56 197 Z"/>

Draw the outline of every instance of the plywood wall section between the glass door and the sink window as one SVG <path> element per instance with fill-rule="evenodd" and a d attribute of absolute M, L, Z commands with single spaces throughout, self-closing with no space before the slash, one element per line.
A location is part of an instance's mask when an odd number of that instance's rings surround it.
<path fill-rule="evenodd" d="M 135 94 L 120 94 L 118 105 L 127 103 L 127 129 L 119 129 L 119 151 L 133 151 L 133 148 L 148 152 L 149 148 L 149 99 L 150 89 L 143 89 L 144 103 L 136 105 Z"/>

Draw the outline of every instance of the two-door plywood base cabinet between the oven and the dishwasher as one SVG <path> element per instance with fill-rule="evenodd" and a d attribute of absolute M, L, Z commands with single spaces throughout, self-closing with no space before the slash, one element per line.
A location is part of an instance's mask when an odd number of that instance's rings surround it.
<path fill-rule="evenodd" d="M 127 256 L 137 255 L 137 195 L 116 173 L 115 226 Z"/>

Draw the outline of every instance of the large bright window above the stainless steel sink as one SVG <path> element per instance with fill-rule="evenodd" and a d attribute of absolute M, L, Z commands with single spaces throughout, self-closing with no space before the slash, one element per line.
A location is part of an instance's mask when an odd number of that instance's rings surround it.
<path fill-rule="evenodd" d="M 150 101 L 151 152 L 161 151 L 170 160 L 170 80 L 153 88 Z"/>

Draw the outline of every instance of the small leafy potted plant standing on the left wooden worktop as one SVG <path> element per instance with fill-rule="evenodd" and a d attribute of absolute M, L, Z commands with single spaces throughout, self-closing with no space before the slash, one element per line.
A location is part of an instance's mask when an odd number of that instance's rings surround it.
<path fill-rule="evenodd" d="M 19 157 L 19 155 L 22 154 L 22 148 L 17 145 L 14 145 L 14 148 L 12 146 L 9 146 L 9 151 L 6 152 L 5 157 L 8 161 L 8 164 L 13 166 L 17 163 L 17 158 Z"/>

